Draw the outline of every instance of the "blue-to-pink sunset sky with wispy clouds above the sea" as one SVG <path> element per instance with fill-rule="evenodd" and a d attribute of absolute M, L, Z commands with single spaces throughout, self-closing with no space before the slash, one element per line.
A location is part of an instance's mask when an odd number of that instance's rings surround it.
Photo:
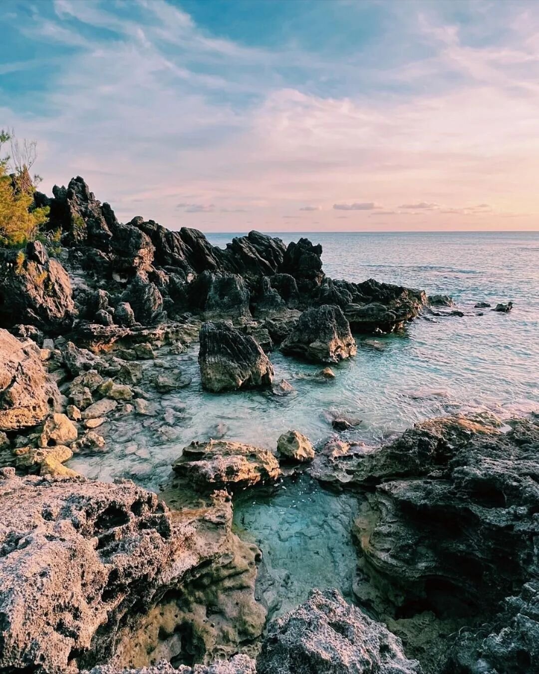
<path fill-rule="evenodd" d="M 51 193 L 202 231 L 539 229 L 537 0 L 3 0 Z"/>

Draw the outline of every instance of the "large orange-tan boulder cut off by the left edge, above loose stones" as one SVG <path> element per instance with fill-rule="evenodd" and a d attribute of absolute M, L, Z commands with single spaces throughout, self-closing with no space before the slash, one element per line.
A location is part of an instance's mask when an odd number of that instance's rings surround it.
<path fill-rule="evenodd" d="M 35 426 L 59 404 L 58 387 L 44 370 L 36 344 L 0 329 L 0 431 Z"/>

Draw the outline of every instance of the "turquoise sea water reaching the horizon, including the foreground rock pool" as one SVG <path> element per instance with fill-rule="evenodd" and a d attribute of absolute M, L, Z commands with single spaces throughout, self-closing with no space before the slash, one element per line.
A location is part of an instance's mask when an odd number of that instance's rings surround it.
<path fill-rule="evenodd" d="M 210 235 L 224 245 L 232 235 Z M 283 235 L 285 241 L 292 238 Z M 90 477 L 129 477 L 158 491 L 170 463 L 193 439 L 209 439 L 225 423 L 226 439 L 274 450 L 280 433 L 298 429 L 318 446 L 331 435 L 325 412 L 349 412 L 362 424 L 354 437 L 379 441 L 414 422 L 477 408 L 502 417 L 539 408 L 539 233 L 311 235 L 323 245 L 324 270 L 333 278 L 374 277 L 453 295 L 465 317 L 417 319 L 406 334 L 358 340 L 354 359 L 334 367 L 336 379 L 305 377 L 320 366 L 271 355 L 276 379 L 295 392 L 208 394 L 201 390 L 197 346 L 183 355 L 160 354 L 162 365 L 193 377 L 175 394 L 155 394 L 158 417 L 126 417 L 102 427 L 108 451 L 69 462 Z M 474 303 L 515 303 L 509 314 Z M 151 362 L 146 367 L 154 368 Z M 166 411 L 166 421 L 162 412 Z M 284 489 L 286 487 L 286 489 Z M 234 522 L 264 553 L 274 585 L 266 599 L 286 610 L 312 586 L 350 594 L 355 553 L 350 541 L 353 497 L 336 497 L 307 478 L 236 501 Z M 247 534 L 247 532 L 249 532 Z"/>

